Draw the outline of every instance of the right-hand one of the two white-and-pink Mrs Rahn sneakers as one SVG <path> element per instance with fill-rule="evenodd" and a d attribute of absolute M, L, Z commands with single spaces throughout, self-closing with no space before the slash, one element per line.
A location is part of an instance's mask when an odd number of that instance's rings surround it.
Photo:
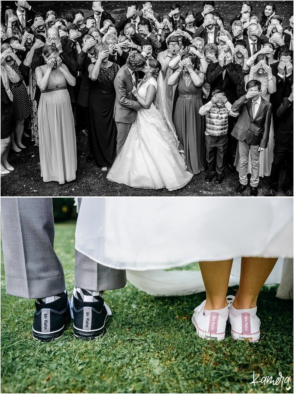
<path fill-rule="evenodd" d="M 260 337 L 260 319 L 256 311 L 256 307 L 251 309 L 235 309 L 231 305 L 229 309 L 229 322 L 231 323 L 231 335 L 233 339 L 258 342 Z"/>

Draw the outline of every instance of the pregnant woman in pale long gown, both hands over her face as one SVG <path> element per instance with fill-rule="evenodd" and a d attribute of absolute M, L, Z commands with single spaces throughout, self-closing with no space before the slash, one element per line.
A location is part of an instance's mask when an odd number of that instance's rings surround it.
<path fill-rule="evenodd" d="M 55 46 L 44 46 L 43 56 L 46 65 L 35 70 L 41 90 L 38 108 L 41 177 L 44 182 L 63 184 L 76 179 L 76 134 L 67 90 L 67 82 L 74 86 L 76 79 L 62 63 Z"/>

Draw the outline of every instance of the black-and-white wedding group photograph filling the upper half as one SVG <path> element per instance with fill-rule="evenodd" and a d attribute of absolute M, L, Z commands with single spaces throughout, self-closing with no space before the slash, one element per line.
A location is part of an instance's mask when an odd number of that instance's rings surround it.
<path fill-rule="evenodd" d="M 2 196 L 293 196 L 293 3 L 2 1 Z"/>

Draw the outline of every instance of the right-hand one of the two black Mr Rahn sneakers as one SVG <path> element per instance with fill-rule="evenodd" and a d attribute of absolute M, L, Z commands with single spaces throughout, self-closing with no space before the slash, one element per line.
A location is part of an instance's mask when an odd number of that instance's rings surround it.
<path fill-rule="evenodd" d="M 111 316 L 109 306 L 102 297 L 94 302 L 80 301 L 72 296 L 74 335 L 82 339 L 95 339 L 104 333 L 105 324 Z"/>

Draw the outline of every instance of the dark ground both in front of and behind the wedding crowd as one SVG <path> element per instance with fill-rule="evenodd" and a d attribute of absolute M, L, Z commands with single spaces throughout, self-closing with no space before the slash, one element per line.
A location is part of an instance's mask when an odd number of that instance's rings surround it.
<path fill-rule="evenodd" d="M 2 2 L 2 9 L 7 4 L 14 2 Z M 104 2 L 104 8 L 110 11 L 116 20 L 119 20 L 126 11 L 126 1 L 107 1 Z M 91 2 L 77 1 L 31 1 L 29 2 L 36 11 L 46 13 L 49 9 L 53 9 L 59 16 L 65 11 L 74 12 L 81 9 L 85 17 L 92 13 Z M 141 8 L 141 2 L 138 2 Z M 153 9 L 160 15 L 168 13 L 172 2 L 155 1 Z M 185 14 L 192 9 L 195 12 L 202 10 L 202 2 L 180 1 L 181 13 Z M 253 1 L 253 9 L 256 15 L 261 15 L 264 2 Z M 293 12 L 293 2 L 284 1 L 277 2 L 277 14 L 284 19 L 284 25 L 288 23 L 288 17 Z M 10 5 L 11 6 L 11 5 Z M 231 20 L 240 11 L 240 2 L 238 1 L 218 1 L 216 2 L 216 10 L 220 11 L 224 17 L 225 26 L 229 26 Z M 57 182 L 44 183 L 40 174 L 37 172 L 39 162 L 39 148 L 25 143 L 28 151 L 22 155 L 11 156 L 9 162 L 15 167 L 13 173 L 1 177 L 1 195 L 2 196 L 235 196 L 235 188 L 238 184 L 238 174 L 227 173 L 224 182 L 217 186 L 214 183 L 207 185 L 204 182 L 205 171 L 200 175 L 195 175 L 191 182 L 185 188 L 178 191 L 166 190 L 145 190 L 133 189 L 125 185 L 114 184 L 106 180 L 107 173 L 102 172 L 93 162 L 86 162 L 85 158 L 88 154 L 87 138 L 80 136 L 78 142 L 78 171 L 76 180 L 64 185 Z M 282 178 L 284 177 L 284 174 Z M 267 178 L 261 178 L 259 182 L 259 195 L 264 195 L 268 188 Z M 244 193 L 249 195 L 249 188 Z M 279 193 L 282 195 L 282 193 Z"/>

